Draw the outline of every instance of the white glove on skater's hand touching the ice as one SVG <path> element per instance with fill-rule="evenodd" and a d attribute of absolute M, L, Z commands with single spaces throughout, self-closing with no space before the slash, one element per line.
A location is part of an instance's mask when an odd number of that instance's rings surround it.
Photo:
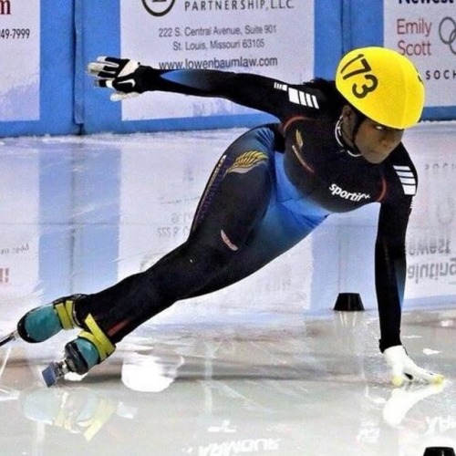
<path fill-rule="evenodd" d="M 440 384 L 444 380 L 442 375 L 434 374 L 417 366 L 401 345 L 387 348 L 383 352 L 383 356 L 391 369 L 391 382 L 395 387 L 400 387 L 404 382 L 414 379 L 424 380 L 432 384 Z"/>

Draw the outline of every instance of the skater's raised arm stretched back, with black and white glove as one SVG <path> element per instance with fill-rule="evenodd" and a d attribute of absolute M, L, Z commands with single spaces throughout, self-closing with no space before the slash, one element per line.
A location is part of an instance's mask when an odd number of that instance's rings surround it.
<path fill-rule="evenodd" d="M 315 114 L 319 108 L 317 90 L 309 89 L 306 95 L 298 90 L 300 86 L 259 75 L 210 69 L 163 70 L 129 59 L 98 58 L 98 62 L 88 65 L 88 71 L 97 78 L 98 87 L 117 90 L 119 95 L 114 95 L 113 99 L 155 90 L 225 98 L 273 114 L 281 120 Z"/>

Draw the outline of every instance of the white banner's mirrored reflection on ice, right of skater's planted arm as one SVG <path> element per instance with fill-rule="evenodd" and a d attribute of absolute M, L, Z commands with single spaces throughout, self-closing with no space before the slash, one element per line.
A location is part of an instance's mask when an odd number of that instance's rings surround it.
<path fill-rule="evenodd" d="M 456 295 L 454 129 L 422 126 L 408 138 L 419 187 L 409 223 L 407 297 Z"/>

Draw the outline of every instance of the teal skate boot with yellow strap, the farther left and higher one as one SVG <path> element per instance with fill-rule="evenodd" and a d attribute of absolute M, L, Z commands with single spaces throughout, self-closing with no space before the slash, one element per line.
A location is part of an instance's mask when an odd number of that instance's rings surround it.
<path fill-rule="evenodd" d="M 75 304 L 86 295 L 58 298 L 47 306 L 30 310 L 17 323 L 17 334 L 26 342 L 37 343 L 55 336 L 62 329 L 81 327 L 75 316 Z"/>

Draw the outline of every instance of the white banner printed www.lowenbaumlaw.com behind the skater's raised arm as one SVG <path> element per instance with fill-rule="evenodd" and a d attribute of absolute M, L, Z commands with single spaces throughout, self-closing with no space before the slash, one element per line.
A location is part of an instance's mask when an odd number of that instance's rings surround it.
<path fill-rule="evenodd" d="M 313 78 L 313 0 L 120 0 L 120 33 L 122 57 L 152 67 Z M 123 103 L 122 119 L 251 112 L 223 99 L 157 92 Z"/>

